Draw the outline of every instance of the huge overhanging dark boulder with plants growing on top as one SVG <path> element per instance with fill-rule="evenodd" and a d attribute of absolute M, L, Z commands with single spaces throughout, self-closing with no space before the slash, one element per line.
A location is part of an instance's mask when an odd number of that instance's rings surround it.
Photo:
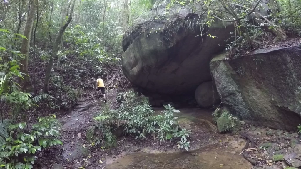
<path fill-rule="evenodd" d="M 128 32 L 122 58 L 126 77 L 152 93 L 193 94 L 198 85 L 212 79 L 211 57 L 225 48 L 234 30 L 231 23 L 218 20 L 201 30 L 197 22 L 202 19 L 189 15 L 171 23 L 154 20 Z"/>

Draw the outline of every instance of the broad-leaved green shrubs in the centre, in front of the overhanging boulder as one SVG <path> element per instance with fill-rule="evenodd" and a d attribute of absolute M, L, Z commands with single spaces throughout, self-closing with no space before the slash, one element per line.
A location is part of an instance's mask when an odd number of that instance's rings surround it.
<path fill-rule="evenodd" d="M 160 141 L 180 139 L 178 147 L 188 150 L 190 142 L 187 142 L 187 137 L 191 131 L 180 129 L 176 121 L 177 117 L 174 117 L 174 113 L 180 111 L 175 110 L 171 105 L 164 105 L 166 110 L 161 112 L 162 115 L 155 115 L 147 99 L 137 97 L 133 91 L 119 93 L 117 101 L 120 102 L 117 110 L 107 107 L 94 118 L 97 126 L 100 126 L 98 128 L 105 133 L 101 135 L 101 140 L 105 140 L 104 146 L 114 145 L 116 137 L 112 137 L 112 131 L 122 126 L 124 131 L 135 139 L 148 139 L 149 136 Z M 93 136 L 94 132 L 95 127 L 90 128 L 86 134 Z"/>

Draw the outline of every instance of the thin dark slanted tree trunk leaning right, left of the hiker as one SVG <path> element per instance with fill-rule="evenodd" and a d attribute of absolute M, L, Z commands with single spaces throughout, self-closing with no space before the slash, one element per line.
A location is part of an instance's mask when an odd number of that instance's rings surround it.
<path fill-rule="evenodd" d="M 73 9 L 74 9 L 74 5 L 75 5 L 76 0 L 73 0 L 72 6 L 71 6 L 71 10 L 70 10 L 70 14 L 69 14 L 69 18 L 67 20 L 67 22 L 65 23 L 64 26 L 61 27 L 60 32 L 58 33 L 58 36 L 55 40 L 55 43 L 53 45 L 53 49 L 51 51 L 51 55 L 49 58 L 49 63 L 46 69 L 46 74 L 45 74 L 45 82 L 44 82 L 44 88 L 43 88 L 43 92 L 48 93 L 48 85 L 49 85 L 49 78 L 50 78 L 50 72 L 51 72 L 51 68 L 53 65 L 53 57 L 56 55 L 57 53 L 57 47 L 61 41 L 61 38 L 63 36 L 63 33 L 65 31 L 65 29 L 67 28 L 67 26 L 69 25 L 69 23 L 72 20 L 72 14 L 73 14 Z"/>

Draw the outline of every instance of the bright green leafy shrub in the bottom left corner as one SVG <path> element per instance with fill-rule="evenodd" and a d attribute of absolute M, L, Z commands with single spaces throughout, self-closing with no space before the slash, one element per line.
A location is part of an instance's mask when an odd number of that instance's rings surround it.
<path fill-rule="evenodd" d="M 7 169 L 33 168 L 35 155 L 42 151 L 42 147 L 63 144 L 57 139 L 60 136 L 60 124 L 55 115 L 39 118 L 31 131 L 26 131 L 25 126 L 25 123 L 17 123 L 6 128 L 10 134 L 1 147 L 0 166 Z"/>

